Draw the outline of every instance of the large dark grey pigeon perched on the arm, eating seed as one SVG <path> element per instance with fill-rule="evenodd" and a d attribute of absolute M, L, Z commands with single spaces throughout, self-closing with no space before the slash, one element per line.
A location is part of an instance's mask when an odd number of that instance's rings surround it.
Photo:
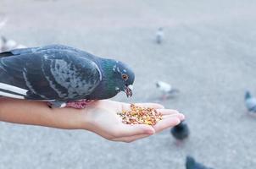
<path fill-rule="evenodd" d="M 52 107 L 84 108 L 124 91 L 132 95 L 135 74 L 125 63 L 64 45 L 0 53 L 0 95 L 48 101 Z"/>

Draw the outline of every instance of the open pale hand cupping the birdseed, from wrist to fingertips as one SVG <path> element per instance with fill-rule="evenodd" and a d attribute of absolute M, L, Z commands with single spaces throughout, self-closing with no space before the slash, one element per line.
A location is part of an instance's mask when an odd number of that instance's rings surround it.
<path fill-rule="evenodd" d="M 140 103 L 136 106 L 152 107 L 163 114 L 163 120 L 154 126 L 146 124 L 129 125 L 122 123 L 117 112 L 130 110 L 130 104 L 117 101 L 94 101 L 82 111 L 83 118 L 86 119 L 84 128 L 101 135 L 105 139 L 112 141 L 131 142 L 142 139 L 152 134 L 159 133 L 165 128 L 171 128 L 184 120 L 184 115 L 164 106 L 155 103 Z"/>

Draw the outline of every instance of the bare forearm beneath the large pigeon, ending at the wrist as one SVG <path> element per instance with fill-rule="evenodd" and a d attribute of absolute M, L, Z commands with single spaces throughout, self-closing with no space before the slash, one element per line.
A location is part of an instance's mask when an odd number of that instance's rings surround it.
<path fill-rule="evenodd" d="M 52 128 L 81 129 L 82 110 L 49 108 L 46 102 L 0 99 L 0 121 Z"/>

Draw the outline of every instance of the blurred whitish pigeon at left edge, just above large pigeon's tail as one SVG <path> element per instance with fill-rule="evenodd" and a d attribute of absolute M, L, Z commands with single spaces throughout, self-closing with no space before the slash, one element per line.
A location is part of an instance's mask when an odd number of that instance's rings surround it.
<path fill-rule="evenodd" d="M 6 37 L 1 36 L 1 49 L 0 52 L 6 52 L 13 49 L 25 48 L 26 46 L 20 45 L 14 40 L 8 40 Z"/>

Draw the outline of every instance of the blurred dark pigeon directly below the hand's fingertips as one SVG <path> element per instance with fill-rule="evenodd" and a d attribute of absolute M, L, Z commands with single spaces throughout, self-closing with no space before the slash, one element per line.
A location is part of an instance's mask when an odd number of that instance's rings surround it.
<path fill-rule="evenodd" d="M 188 138 L 190 132 L 187 124 L 184 121 L 182 121 L 175 127 L 171 128 L 170 133 L 175 137 L 175 139 L 182 141 Z"/>

